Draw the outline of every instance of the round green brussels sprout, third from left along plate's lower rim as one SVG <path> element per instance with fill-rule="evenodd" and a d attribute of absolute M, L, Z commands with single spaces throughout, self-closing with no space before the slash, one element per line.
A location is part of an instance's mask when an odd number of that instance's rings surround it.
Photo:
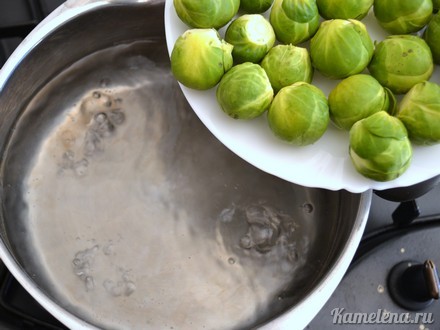
<path fill-rule="evenodd" d="M 324 134 L 330 120 L 327 98 L 318 87 L 297 82 L 275 95 L 267 119 L 280 139 L 297 146 L 312 144 Z"/>

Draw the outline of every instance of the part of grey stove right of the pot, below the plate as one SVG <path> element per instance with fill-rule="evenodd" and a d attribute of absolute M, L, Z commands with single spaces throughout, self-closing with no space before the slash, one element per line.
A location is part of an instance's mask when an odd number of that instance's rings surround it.
<path fill-rule="evenodd" d="M 440 265 L 439 202 L 439 185 L 404 203 L 373 195 L 356 255 L 336 291 L 306 329 L 340 329 L 344 325 L 370 330 L 439 329 L 439 302 L 422 297 L 407 304 L 399 297 L 401 290 L 398 294 L 393 290 L 393 278 L 402 278 L 408 267 L 423 266 L 427 260 Z M 405 282 L 403 291 L 416 289 L 421 293 L 423 284 L 424 278 Z"/>

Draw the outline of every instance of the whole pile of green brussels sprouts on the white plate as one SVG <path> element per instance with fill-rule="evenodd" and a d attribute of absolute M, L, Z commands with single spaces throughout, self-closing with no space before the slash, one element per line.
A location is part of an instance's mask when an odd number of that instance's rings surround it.
<path fill-rule="evenodd" d="M 173 1 L 189 28 L 172 72 L 189 88 L 216 87 L 229 116 L 266 112 L 274 134 L 296 146 L 332 122 L 349 131 L 356 170 L 376 181 L 405 172 L 412 143 L 440 142 L 440 86 L 429 81 L 440 64 L 440 0 Z M 384 40 L 362 23 L 370 10 Z M 338 80 L 328 97 L 312 84 L 315 70 Z"/>

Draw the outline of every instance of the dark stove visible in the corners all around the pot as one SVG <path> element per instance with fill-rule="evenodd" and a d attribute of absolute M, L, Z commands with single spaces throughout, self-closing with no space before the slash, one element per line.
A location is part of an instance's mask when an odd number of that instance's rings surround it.
<path fill-rule="evenodd" d="M 0 67 L 26 35 L 63 2 L 0 0 Z M 389 279 L 390 274 L 400 279 L 414 265 L 425 269 L 430 265 L 425 263 L 428 260 L 440 265 L 439 236 L 439 184 L 405 202 L 373 195 L 366 230 L 352 264 L 307 329 L 438 329 L 439 303 L 425 299 L 423 306 L 408 307 L 399 300 L 399 289 L 392 290 Z M 408 287 L 415 286 L 404 289 Z M 406 319 L 396 318 L 390 323 L 390 316 Z M 20 286 L 1 261 L 0 329 L 66 329 Z"/>

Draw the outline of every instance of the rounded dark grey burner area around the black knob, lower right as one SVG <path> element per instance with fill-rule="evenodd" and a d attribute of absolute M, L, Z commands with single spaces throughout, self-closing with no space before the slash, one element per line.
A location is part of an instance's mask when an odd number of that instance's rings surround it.
<path fill-rule="evenodd" d="M 343 324 L 356 329 L 434 329 L 440 310 L 434 267 L 440 264 L 439 235 L 436 217 L 366 235 L 344 279 L 307 329 L 339 329 Z M 426 283 L 434 289 L 428 290 Z"/>

